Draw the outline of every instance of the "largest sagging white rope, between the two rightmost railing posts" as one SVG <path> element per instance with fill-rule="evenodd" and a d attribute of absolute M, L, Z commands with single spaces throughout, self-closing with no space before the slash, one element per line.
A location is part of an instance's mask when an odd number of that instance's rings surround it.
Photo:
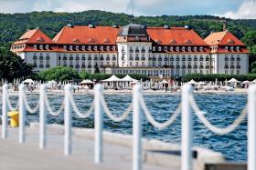
<path fill-rule="evenodd" d="M 228 125 L 227 127 L 224 128 L 220 128 L 217 127 L 215 125 L 212 125 L 208 119 L 205 117 L 205 112 L 201 111 L 199 109 L 199 107 L 197 106 L 197 103 L 194 99 L 193 96 L 190 97 L 189 99 L 190 101 L 190 105 L 191 107 L 195 110 L 195 113 L 197 115 L 197 117 L 200 119 L 200 121 L 206 126 L 208 127 L 208 129 L 218 135 L 226 135 L 229 134 L 230 132 L 232 132 L 236 127 L 238 127 L 241 122 L 246 118 L 247 115 L 247 109 L 248 109 L 248 105 L 246 105 L 243 110 L 241 111 L 240 116 L 238 116 L 238 118 L 231 124 Z"/>

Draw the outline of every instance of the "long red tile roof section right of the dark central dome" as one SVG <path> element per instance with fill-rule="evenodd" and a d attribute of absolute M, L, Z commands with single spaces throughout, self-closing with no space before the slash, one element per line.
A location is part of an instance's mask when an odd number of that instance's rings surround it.
<path fill-rule="evenodd" d="M 147 34 L 159 45 L 207 45 L 192 29 L 183 27 L 147 27 Z"/>

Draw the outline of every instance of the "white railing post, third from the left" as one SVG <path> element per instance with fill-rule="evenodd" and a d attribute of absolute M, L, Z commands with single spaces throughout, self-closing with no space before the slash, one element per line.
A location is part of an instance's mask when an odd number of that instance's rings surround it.
<path fill-rule="evenodd" d="M 46 147 L 47 138 L 46 138 L 46 105 L 45 105 L 45 97 L 47 92 L 47 86 L 40 86 L 40 96 L 39 96 L 39 148 L 43 149 Z"/>

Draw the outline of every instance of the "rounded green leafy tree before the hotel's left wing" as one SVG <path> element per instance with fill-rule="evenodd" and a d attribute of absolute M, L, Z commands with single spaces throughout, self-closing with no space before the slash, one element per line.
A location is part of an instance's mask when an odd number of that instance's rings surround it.
<path fill-rule="evenodd" d="M 38 73 L 38 78 L 46 81 L 68 81 L 80 79 L 80 75 L 74 68 L 67 66 L 57 66 Z"/>

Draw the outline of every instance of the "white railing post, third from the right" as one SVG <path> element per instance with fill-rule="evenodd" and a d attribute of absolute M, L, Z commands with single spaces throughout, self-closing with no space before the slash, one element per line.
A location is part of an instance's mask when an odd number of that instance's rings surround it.
<path fill-rule="evenodd" d="M 133 87 L 133 170 L 142 170 L 142 120 L 140 95 L 142 87 L 134 85 Z"/>

